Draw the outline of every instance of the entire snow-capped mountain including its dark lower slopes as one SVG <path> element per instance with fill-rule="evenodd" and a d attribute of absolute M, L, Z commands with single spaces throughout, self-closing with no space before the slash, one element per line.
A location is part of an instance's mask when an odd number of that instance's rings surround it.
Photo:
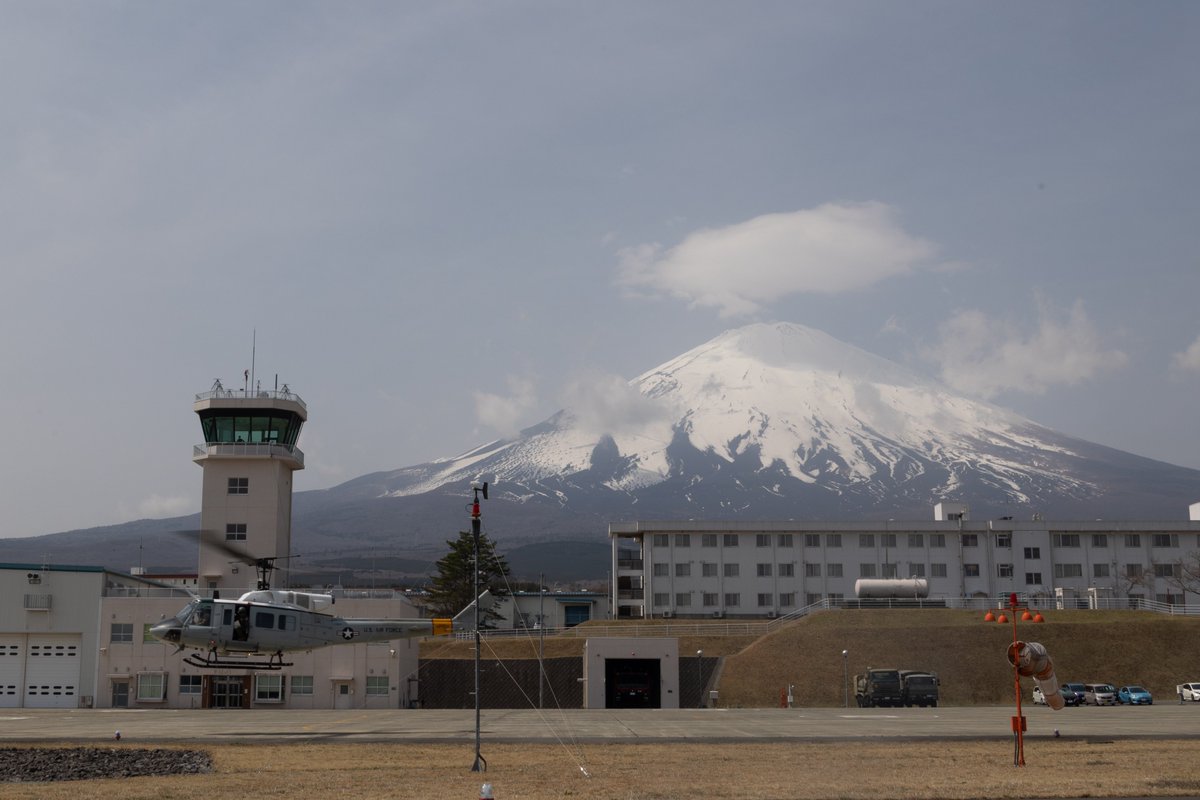
<path fill-rule="evenodd" d="M 794 324 L 726 331 L 520 434 L 293 498 L 293 551 L 342 570 L 427 575 L 488 481 L 485 530 L 516 575 L 604 576 L 607 527 L 650 519 L 1186 519 L 1200 470 L 1075 439 Z M 179 563 L 198 515 L 26 540 L 0 559 Z M 520 553 L 524 552 L 522 557 Z M 193 558 L 193 554 L 186 554 Z M 425 572 L 422 572 L 425 571 Z"/>

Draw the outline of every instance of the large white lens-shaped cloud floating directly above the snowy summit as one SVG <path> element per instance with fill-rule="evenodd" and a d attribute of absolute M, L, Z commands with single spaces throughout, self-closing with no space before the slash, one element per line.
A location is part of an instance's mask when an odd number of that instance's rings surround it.
<path fill-rule="evenodd" d="M 618 283 L 710 306 L 721 317 L 752 314 L 802 291 L 853 291 L 934 255 L 934 245 L 905 233 L 894 216 L 882 203 L 826 204 L 697 230 L 666 251 L 658 243 L 623 249 Z"/>

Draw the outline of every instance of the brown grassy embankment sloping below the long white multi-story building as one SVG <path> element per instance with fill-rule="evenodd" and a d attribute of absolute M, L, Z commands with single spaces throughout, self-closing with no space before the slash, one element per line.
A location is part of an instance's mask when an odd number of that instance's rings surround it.
<path fill-rule="evenodd" d="M 1019 622 L 1018 636 L 1045 645 L 1060 681 L 1140 684 L 1157 702 L 1175 702 L 1176 684 L 1200 680 L 1200 619 L 1092 610 L 1046 610 L 1044 616 L 1042 624 Z M 667 630 L 661 621 L 643 625 Z M 720 625 L 713 622 L 714 630 Z M 763 637 L 683 636 L 679 652 L 724 657 L 715 687 L 720 704 L 731 708 L 778 705 L 780 688 L 790 684 L 797 705 L 841 705 L 842 650 L 850 654 L 851 675 L 869 666 L 925 669 L 941 678 L 944 704 L 994 705 L 1013 699 L 1006 658 L 1012 640 L 1010 625 L 984 622 L 974 610 L 830 610 Z M 424 657 L 474 652 L 467 642 L 421 646 Z M 488 640 L 485 648 L 485 657 L 530 658 L 538 652 L 535 642 L 522 639 Z M 545 640 L 547 658 L 582 652 L 582 638 Z"/>

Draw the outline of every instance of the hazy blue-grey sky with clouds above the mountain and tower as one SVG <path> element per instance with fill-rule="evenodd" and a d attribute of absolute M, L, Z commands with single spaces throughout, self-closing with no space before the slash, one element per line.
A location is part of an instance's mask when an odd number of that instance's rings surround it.
<path fill-rule="evenodd" d="M 760 320 L 1200 468 L 1198 54 L 1189 1 L 5 2 L 0 536 L 197 511 L 256 335 L 298 489 Z"/>

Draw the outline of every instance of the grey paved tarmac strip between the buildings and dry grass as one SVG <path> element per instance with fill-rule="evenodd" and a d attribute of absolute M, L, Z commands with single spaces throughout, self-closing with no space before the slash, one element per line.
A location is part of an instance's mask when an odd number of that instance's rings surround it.
<path fill-rule="evenodd" d="M 1073 739 L 1190 738 L 1200 704 L 1024 706 L 1026 736 Z M 937 709 L 485 709 L 480 735 L 492 742 L 536 741 L 816 741 L 890 738 L 1010 739 L 1012 706 Z M 449 742 L 475 735 L 474 710 L 293 709 L 0 709 L 0 741 L 89 742 Z"/>

